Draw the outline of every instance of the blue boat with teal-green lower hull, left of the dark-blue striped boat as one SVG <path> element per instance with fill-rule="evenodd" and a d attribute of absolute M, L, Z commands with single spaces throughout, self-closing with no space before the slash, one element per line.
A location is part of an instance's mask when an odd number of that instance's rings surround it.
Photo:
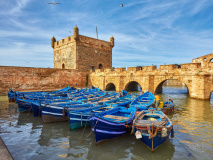
<path fill-rule="evenodd" d="M 69 110 L 68 109 L 68 116 L 69 116 L 69 125 L 71 130 L 81 128 L 84 126 L 89 126 L 89 118 L 95 114 L 100 113 L 109 109 L 112 109 L 113 107 L 107 107 L 103 105 L 98 105 L 91 108 L 86 109 L 78 109 L 78 110 Z"/>

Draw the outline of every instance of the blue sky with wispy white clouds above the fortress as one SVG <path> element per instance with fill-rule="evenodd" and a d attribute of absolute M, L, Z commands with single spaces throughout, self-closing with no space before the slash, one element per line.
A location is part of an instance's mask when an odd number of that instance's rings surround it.
<path fill-rule="evenodd" d="M 81 35 L 96 38 L 97 26 L 99 39 L 114 36 L 113 67 L 213 53 L 212 0 L 1 0 L 0 65 L 52 68 L 51 37 L 71 36 L 76 24 Z"/>

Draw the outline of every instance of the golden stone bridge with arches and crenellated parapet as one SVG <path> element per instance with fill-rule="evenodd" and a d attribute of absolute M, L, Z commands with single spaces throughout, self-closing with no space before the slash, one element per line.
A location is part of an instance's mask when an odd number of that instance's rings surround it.
<path fill-rule="evenodd" d="M 192 60 L 192 63 L 181 65 L 160 65 L 96 69 L 90 71 L 91 84 L 100 89 L 121 90 L 136 89 L 138 84 L 143 91 L 162 92 L 166 80 L 179 80 L 188 88 L 189 96 L 209 100 L 213 91 L 213 53 Z"/>

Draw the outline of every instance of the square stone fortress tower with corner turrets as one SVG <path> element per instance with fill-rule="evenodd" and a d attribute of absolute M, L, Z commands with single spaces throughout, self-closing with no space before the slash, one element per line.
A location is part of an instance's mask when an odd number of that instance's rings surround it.
<path fill-rule="evenodd" d="M 51 39 L 53 48 L 54 68 L 76 69 L 88 71 L 90 69 L 106 69 L 112 67 L 112 48 L 114 37 L 110 42 L 79 35 L 77 26 L 73 35 L 56 41 Z"/>

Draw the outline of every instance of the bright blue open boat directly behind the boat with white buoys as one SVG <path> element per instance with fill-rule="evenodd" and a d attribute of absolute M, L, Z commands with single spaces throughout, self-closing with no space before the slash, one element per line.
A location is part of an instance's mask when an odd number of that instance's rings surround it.
<path fill-rule="evenodd" d="M 137 111 L 147 110 L 153 105 L 154 101 L 155 96 L 147 91 L 132 101 L 130 107 L 135 107 Z"/>

